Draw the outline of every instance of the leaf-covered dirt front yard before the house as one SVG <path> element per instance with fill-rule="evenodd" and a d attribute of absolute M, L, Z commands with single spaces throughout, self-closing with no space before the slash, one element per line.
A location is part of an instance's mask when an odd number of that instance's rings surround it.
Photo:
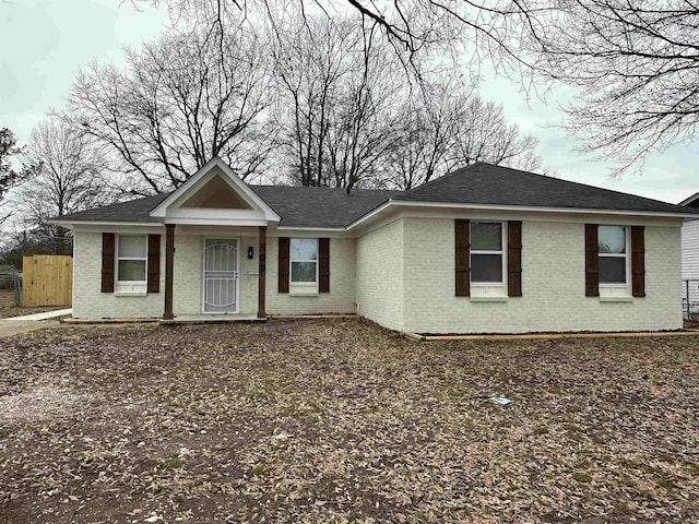
<path fill-rule="evenodd" d="M 15 336 L 0 522 L 697 522 L 698 343 L 418 344 L 357 319 Z"/>

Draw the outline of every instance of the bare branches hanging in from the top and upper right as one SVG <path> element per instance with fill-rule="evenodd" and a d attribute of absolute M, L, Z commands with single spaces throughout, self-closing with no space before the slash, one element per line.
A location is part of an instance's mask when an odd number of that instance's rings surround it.
<path fill-rule="evenodd" d="M 270 0 L 132 0 L 215 21 L 280 11 Z M 303 13 L 324 0 L 287 0 Z M 441 52 L 452 64 L 493 62 L 526 91 L 549 82 L 580 88 L 567 107 L 580 150 L 619 159 L 617 175 L 649 152 L 692 141 L 697 129 L 699 4 L 692 0 L 347 0 L 341 9 L 374 23 L 396 56 Z"/>

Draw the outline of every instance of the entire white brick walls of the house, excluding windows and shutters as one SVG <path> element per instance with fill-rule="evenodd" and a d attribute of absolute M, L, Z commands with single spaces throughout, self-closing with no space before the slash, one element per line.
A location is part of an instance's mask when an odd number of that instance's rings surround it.
<path fill-rule="evenodd" d="M 523 297 L 509 298 L 507 302 L 475 302 L 467 297 L 454 297 L 452 218 L 402 217 L 358 239 L 331 238 L 331 293 L 313 297 L 277 293 L 277 239 L 270 236 L 266 311 L 301 314 L 357 310 L 387 327 L 418 333 L 678 329 L 682 326 L 678 225 L 645 226 L 647 297 L 631 302 L 602 302 L 584 297 L 582 223 L 523 222 Z M 129 233 L 149 230 L 129 229 Z M 102 233 L 74 231 L 73 315 L 161 317 L 165 236 L 164 230 L 159 233 L 163 234 L 161 293 L 119 297 L 99 291 Z M 240 312 L 253 314 L 258 306 L 257 236 L 238 238 Z M 175 314 L 199 314 L 202 236 L 176 234 L 175 246 Z M 247 259 L 249 246 L 254 248 L 253 260 Z"/>

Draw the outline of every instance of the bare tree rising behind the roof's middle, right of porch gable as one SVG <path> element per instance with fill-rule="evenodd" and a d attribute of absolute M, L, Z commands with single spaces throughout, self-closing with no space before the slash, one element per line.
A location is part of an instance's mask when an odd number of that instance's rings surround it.
<path fill-rule="evenodd" d="M 282 163 L 304 186 L 371 184 L 394 138 L 395 60 L 356 19 L 309 17 L 276 31 Z"/>

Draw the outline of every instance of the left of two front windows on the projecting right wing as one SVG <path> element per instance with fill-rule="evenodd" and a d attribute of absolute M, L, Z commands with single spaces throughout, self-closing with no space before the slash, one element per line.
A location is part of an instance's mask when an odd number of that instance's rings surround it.
<path fill-rule="evenodd" d="M 502 285 L 503 225 L 501 222 L 471 223 L 471 283 Z"/>

